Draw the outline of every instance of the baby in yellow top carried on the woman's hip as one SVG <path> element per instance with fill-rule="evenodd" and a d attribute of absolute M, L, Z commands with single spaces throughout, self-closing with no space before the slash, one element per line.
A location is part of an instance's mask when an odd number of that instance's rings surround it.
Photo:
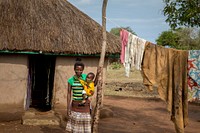
<path fill-rule="evenodd" d="M 87 74 L 86 81 L 79 79 L 80 83 L 82 84 L 84 90 L 82 91 L 83 100 L 79 104 L 80 106 L 83 106 L 86 103 L 86 100 L 88 97 L 92 96 L 94 94 L 94 79 L 95 74 L 90 72 Z"/>

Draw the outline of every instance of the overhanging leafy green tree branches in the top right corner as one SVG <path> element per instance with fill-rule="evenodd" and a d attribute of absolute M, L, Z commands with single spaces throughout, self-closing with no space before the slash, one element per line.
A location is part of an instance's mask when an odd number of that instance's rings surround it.
<path fill-rule="evenodd" d="M 178 26 L 200 27 L 200 0 L 164 0 L 163 13 L 172 29 Z"/>

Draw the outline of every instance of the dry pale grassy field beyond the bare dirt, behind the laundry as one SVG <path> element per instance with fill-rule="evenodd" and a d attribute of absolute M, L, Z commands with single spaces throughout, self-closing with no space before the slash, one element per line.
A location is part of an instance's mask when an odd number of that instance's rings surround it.
<path fill-rule="evenodd" d="M 119 69 L 111 69 L 111 67 L 108 67 L 104 88 L 104 95 L 158 97 L 156 90 L 150 92 L 143 85 L 142 74 L 139 70 L 132 69 L 129 77 L 127 77 L 125 76 L 125 68 L 123 66 Z"/>

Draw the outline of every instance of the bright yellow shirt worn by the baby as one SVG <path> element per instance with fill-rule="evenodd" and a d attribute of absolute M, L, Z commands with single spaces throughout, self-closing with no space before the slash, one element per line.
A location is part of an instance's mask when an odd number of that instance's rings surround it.
<path fill-rule="evenodd" d="M 85 92 L 86 92 L 86 95 L 88 96 L 92 96 L 94 94 L 94 82 L 91 81 L 91 82 L 86 82 L 82 79 L 79 79 L 80 83 L 82 84 Z"/>

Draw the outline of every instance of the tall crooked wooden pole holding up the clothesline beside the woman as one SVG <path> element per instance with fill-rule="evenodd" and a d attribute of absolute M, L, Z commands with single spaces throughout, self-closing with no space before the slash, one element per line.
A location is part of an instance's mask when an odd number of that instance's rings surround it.
<path fill-rule="evenodd" d="M 108 0 L 103 0 L 102 6 L 102 35 L 103 35 L 103 42 L 102 42 L 102 51 L 99 60 L 99 67 L 100 67 L 100 74 L 98 77 L 98 84 L 97 84 L 97 97 L 96 97 L 96 107 L 94 109 L 94 117 L 92 122 L 92 132 L 98 133 L 98 123 L 99 123 L 99 116 L 100 116 L 100 107 L 102 104 L 102 92 L 103 92 L 103 66 L 106 54 L 106 7 L 107 7 Z"/>

